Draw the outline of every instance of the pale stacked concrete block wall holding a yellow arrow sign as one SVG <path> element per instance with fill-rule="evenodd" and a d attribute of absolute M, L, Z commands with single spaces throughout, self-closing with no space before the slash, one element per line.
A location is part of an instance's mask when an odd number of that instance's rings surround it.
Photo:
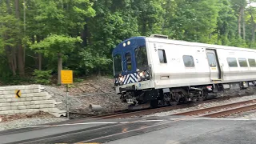
<path fill-rule="evenodd" d="M 38 111 L 49 112 L 55 117 L 66 116 L 66 110 L 59 110 L 56 102 L 47 92 L 42 92 L 42 86 L 0 86 L 0 115 L 30 114 Z M 21 91 L 21 97 L 16 98 L 15 90 Z"/>

